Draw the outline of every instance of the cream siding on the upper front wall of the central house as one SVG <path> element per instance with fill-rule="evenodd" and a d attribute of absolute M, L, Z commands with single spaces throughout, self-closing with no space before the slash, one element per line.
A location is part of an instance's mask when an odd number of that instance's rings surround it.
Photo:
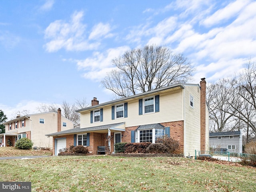
<path fill-rule="evenodd" d="M 156 94 L 157 95 L 157 94 Z M 125 122 L 126 127 L 183 120 L 182 89 L 160 94 L 160 112 L 139 115 L 139 99 L 128 102 L 128 117 L 112 120 L 111 106 L 103 107 L 103 122 L 90 123 L 90 111 L 81 114 L 81 128 Z M 126 102 L 126 101 L 124 101 Z M 113 104 L 114 106 L 114 104 Z M 155 109 L 154 109 L 155 110 Z"/>

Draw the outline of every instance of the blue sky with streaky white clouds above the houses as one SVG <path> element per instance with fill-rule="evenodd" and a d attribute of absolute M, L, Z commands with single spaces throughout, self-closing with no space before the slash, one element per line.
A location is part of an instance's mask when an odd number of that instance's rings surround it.
<path fill-rule="evenodd" d="M 111 60 L 146 44 L 187 57 L 190 83 L 215 82 L 256 61 L 255 25 L 252 0 L 0 1 L 0 109 L 112 100 Z"/>

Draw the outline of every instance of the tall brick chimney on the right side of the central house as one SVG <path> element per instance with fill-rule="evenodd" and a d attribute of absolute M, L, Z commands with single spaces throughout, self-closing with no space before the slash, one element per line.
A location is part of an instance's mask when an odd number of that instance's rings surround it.
<path fill-rule="evenodd" d="M 206 147 L 206 81 L 202 78 L 200 81 L 200 146 L 201 151 Z"/>

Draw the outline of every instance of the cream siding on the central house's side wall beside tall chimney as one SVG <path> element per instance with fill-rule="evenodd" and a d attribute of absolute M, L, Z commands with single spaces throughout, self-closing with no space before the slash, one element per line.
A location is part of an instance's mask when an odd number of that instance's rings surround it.
<path fill-rule="evenodd" d="M 200 150 L 200 88 L 197 85 L 187 85 L 185 93 L 186 116 L 186 156 L 193 156 L 195 150 Z M 190 106 L 190 95 L 193 96 L 194 106 Z"/>

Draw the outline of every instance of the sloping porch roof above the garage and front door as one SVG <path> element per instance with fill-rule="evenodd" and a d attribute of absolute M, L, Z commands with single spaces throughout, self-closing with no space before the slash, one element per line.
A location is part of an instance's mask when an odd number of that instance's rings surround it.
<path fill-rule="evenodd" d="M 108 124 L 108 125 L 101 125 L 101 126 L 95 126 L 95 127 L 88 127 L 88 128 L 74 128 L 69 130 L 64 130 L 60 132 L 55 132 L 52 134 L 46 134 L 45 136 L 65 136 L 65 135 L 71 135 L 71 134 L 82 134 L 82 133 L 90 133 L 90 132 L 96 132 L 96 133 L 108 133 L 108 130 L 112 130 L 113 132 L 120 132 L 125 131 L 125 123 L 114 123 L 114 124 Z"/>

